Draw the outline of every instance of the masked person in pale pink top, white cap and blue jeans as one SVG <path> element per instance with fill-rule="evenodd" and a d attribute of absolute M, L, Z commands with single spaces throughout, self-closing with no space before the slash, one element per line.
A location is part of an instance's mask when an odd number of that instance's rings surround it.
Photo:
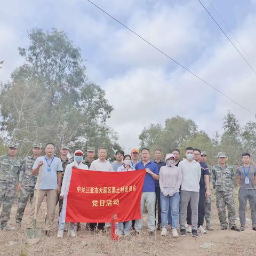
<path fill-rule="evenodd" d="M 179 221 L 179 202 L 180 202 L 180 185 L 182 174 L 179 167 L 175 166 L 175 157 L 173 154 L 165 156 L 166 166 L 162 166 L 159 172 L 159 186 L 161 189 L 161 215 L 162 215 L 162 232 L 161 235 L 167 235 L 167 214 L 171 207 L 172 236 L 178 237 Z"/>

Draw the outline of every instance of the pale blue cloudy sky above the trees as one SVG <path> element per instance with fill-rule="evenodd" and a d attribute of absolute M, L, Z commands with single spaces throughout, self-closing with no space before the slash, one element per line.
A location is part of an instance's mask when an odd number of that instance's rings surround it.
<path fill-rule="evenodd" d="M 202 0 L 256 68 L 256 1 Z M 256 75 L 213 23 L 201 4 L 191 1 L 95 0 L 134 29 L 231 98 L 255 111 Z M 212 8 L 218 10 L 222 19 Z M 152 47 L 119 26 L 86 0 L 5 1 L 0 10 L 0 80 L 7 81 L 22 64 L 17 47 L 26 46 L 33 27 L 64 29 L 81 47 L 89 79 L 106 90 L 115 107 L 108 124 L 127 150 L 150 123 L 181 115 L 192 118 L 210 136 L 221 131 L 227 109 L 243 124 L 253 117 L 209 86 L 182 70 Z M 243 52 L 233 36 L 246 50 Z"/>

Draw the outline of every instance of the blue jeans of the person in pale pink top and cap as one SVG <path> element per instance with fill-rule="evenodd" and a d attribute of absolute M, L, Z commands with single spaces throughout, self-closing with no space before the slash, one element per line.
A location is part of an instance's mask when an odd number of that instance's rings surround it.
<path fill-rule="evenodd" d="M 164 196 L 161 192 L 161 217 L 162 217 L 162 225 L 163 228 L 167 226 L 167 215 L 169 211 L 169 207 L 171 207 L 171 219 L 172 219 L 172 227 L 178 228 L 179 221 L 179 202 L 180 202 L 180 193 L 177 192 L 173 196 Z"/>

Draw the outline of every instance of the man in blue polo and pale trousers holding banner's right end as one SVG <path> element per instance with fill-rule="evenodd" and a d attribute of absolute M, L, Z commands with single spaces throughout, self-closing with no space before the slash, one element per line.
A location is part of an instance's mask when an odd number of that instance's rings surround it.
<path fill-rule="evenodd" d="M 135 220 L 135 234 L 140 234 L 142 228 L 142 216 L 144 211 L 145 202 L 147 202 L 148 209 L 148 231 L 149 235 L 154 235 L 155 230 L 155 203 L 156 203 L 156 193 L 155 193 L 155 181 L 159 180 L 158 167 L 150 160 L 150 152 L 148 148 L 143 148 L 141 150 L 141 162 L 135 165 L 136 170 L 145 169 L 146 176 L 143 183 L 142 195 L 141 195 L 141 219 Z"/>

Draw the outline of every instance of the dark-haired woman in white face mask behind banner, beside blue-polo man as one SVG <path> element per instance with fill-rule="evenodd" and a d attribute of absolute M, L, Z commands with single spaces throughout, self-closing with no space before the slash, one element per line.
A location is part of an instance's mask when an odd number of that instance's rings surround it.
<path fill-rule="evenodd" d="M 130 155 L 125 155 L 123 158 L 124 164 L 119 166 L 117 172 L 127 172 L 127 171 L 135 171 L 135 168 L 132 167 L 132 158 Z M 130 228 L 131 228 L 131 220 L 125 222 L 119 222 L 119 235 L 130 235 Z"/>

